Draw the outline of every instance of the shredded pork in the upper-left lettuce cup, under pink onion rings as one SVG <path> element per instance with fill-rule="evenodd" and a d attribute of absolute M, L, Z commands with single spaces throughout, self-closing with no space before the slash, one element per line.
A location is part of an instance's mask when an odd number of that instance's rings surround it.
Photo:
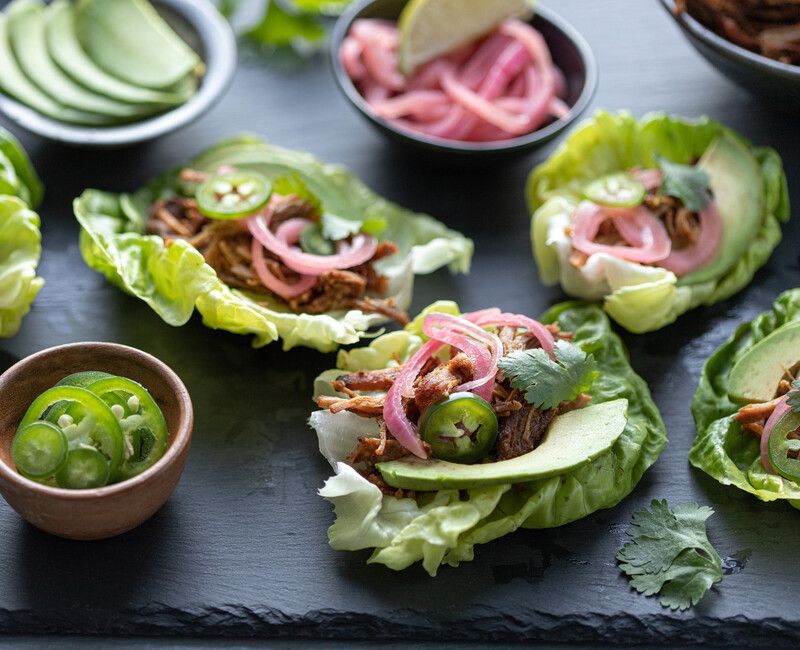
<path fill-rule="evenodd" d="M 197 174 L 192 170 L 184 172 L 183 176 L 188 180 L 195 178 L 192 174 Z M 269 204 L 268 209 L 272 210 L 272 228 L 293 218 L 318 219 L 316 208 L 294 195 L 279 197 Z M 167 246 L 176 239 L 187 241 L 200 251 L 208 265 L 228 286 L 273 295 L 253 269 L 250 250 L 252 235 L 243 221 L 209 219 L 198 210 L 197 203 L 191 198 L 161 199 L 150 209 L 147 232 L 160 236 Z M 388 279 L 375 270 L 374 263 L 397 251 L 393 242 L 383 241 L 370 261 L 351 269 L 323 273 L 314 287 L 287 303 L 293 311 L 307 314 L 360 309 L 364 313 L 381 314 L 404 325 L 408 322 L 408 315 L 397 308 L 392 299 L 368 296 L 382 296 L 388 290 Z M 279 280 L 292 283 L 299 278 L 270 251 L 265 251 L 265 256 L 269 270 Z"/>

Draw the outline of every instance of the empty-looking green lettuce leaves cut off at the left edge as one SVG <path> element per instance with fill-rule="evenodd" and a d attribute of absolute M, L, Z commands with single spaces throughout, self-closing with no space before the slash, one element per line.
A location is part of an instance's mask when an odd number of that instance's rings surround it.
<path fill-rule="evenodd" d="M 0 336 L 13 336 L 39 293 L 42 183 L 17 139 L 0 128 Z"/>

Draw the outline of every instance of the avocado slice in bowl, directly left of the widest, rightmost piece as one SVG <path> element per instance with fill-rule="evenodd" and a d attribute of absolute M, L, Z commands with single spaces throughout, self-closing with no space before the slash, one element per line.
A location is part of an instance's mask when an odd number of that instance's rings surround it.
<path fill-rule="evenodd" d="M 100 95 L 131 104 L 148 104 L 150 112 L 183 104 L 197 84 L 183 83 L 170 92 L 161 92 L 126 83 L 111 76 L 83 51 L 75 33 L 74 11 L 70 0 L 55 0 L 45 10 L 47 49 L 55 64 L 76 82 Z"/>

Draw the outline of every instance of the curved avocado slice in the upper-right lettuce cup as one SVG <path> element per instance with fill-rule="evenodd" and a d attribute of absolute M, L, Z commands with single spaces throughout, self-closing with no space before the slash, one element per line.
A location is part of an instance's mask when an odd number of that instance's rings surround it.
<path fill-rule="evenodd" d="M 711 191 L 722 219 L 722 241 L 708 264 L 679 278 L 678 284 L 714 280 L 744 255 L 764 222 L 761 168 L 750 150 L 728 133 L 712 142 L 698 161 L 711 177 Z"/>

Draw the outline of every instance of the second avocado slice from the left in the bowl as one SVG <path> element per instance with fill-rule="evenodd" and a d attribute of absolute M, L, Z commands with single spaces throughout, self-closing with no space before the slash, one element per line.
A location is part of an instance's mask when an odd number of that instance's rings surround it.
<path fill-rule="evenodd" d="M 75 83 L 50 58 L 40 0 L 14 0 L 6 10 L 8 36 L 20 68 L 39 89 L 55 101 L 81 111 L 124 121 L 146 112 L 141 106 L 103 97 Z"/>

